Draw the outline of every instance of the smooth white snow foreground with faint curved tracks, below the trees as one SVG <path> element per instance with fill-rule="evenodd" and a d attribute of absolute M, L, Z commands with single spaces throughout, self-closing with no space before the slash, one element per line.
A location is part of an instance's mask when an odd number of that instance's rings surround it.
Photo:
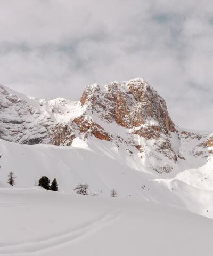
<path fill-rule="evenodd" d="M 0 188 L 0 255 L 212 255 L 213 221 L 124 198 Z"/>

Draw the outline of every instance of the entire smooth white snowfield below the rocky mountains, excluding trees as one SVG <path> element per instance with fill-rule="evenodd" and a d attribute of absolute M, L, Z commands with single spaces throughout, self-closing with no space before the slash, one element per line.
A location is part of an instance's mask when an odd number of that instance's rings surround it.
<path fill-rule="evenodd" d="M 213 191 L 190 186 L 190 170 L 140 169 L 136 156 L 95 138 L 70 147 L 0 140 L 0 152 L 0 255 L 212 255 Z M 42 175 L 56 177 L 58 193 L 35 186 Z M 88 196 L 75 194 L 78 183 Z"/>

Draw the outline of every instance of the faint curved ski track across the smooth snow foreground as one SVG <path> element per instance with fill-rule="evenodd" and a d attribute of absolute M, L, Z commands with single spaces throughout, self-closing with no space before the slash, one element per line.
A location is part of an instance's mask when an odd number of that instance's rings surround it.
<path fill-rule="evenodd" d="M 87 235 L 92 234 L 105 226 L 110 225 L 119 219 L 119 211 L 114 210 L 107 212 L 93 221 L 88 221 L 84 225 L 78 226 L 68 232 L 61 232 L 56 236 L 47 239 L 37 239 L 26 243 L 0 243 L 0 255 L 29 253 L 51 249 L 64 243 L 76 242 L 78 239 L 84 239 Z"/>

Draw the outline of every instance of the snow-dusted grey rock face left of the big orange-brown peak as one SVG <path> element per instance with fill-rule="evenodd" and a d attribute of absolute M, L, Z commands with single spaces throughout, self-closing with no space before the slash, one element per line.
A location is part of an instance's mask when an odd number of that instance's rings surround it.
<path fill-rule="evenodd" d="M 62 118 L 72 103 L 62 98 L 29 98 L 0 86 L 0 138 L 29 145 L 71 145 L 72 129 L 57 118 Z"/>

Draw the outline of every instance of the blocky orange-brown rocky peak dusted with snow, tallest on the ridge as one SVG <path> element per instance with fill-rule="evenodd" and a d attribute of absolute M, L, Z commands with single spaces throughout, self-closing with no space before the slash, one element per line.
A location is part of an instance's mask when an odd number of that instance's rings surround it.
<path fill-rule="evenodd" d="M 165 100 L 142 78 L 112 82 L 101 88 L 97 84 L 88 86 L 80 102 L 108 122 L 115 121 L 128 129 L 140 127 L 137 133 L 153 126 L 155 135 L 150 137 L 158 137 L 157 131 L 166 134 L 176 130 Z"/>

